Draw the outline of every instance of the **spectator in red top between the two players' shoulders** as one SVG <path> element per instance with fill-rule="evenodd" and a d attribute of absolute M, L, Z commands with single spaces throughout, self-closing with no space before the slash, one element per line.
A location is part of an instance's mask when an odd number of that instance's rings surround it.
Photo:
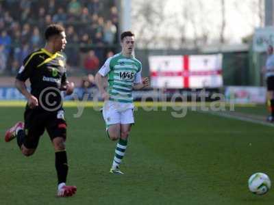
<path fill-rule="evenodd" d="M 95 55 L 95 51 L 90 50 L 84 59 L 84 68 L 87 74 L 95 75 L 99 69 L 99 59 Z"/>

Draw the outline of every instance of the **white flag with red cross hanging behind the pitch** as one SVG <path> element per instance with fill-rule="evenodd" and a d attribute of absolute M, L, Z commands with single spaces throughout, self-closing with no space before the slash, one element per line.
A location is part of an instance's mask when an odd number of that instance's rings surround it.
<path fill-rule="evenodd" d="M 217 55 L 162 55 L 149 57 L 152 87 L 222 87 L 222 59 Z"/>

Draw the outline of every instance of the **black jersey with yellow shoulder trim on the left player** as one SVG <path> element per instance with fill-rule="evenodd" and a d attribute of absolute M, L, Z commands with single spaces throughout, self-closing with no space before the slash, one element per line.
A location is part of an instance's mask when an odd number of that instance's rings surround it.
<path fill-rule="evenodd" d="M 32 95 L 39 98 L 47 87 L 60 89 L 61 84 L 66 82 L 65 61 L 60 53 L 39 49 L 24 59 L 16 79 L 24 82 L 29 79 Z"/>

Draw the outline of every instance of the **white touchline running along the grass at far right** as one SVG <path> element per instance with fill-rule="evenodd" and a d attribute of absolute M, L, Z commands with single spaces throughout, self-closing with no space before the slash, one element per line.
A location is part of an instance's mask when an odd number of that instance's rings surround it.
<path fill-rule="evenodd" d="M 232 115 L 232 114 L 229 114 L 229 113 L 216 112 L 216 111 L 209 111 L 209 112 L 199 111 L 199 112 L 201 112 L 201 113 L 209 113 L 211 115 L 216 115 L 216 116 L 220 116 L 220 117 L 223 117 L 223 118 L 229 118 L 229 119 L 234 119 L 234 120 L 241 120 L 241 121 L 244 121 L 244 122 L 251 122 L 251 123 L 254 123 L 254 124 L 262 124 L 264 126 L 274 127 L 274 124 L 271 124 L 270 122 L 264 122 L 262 120 L 254 120 L 254 119 L 251 119 L 251 118 L 237 116 L 237 115 Z"/>

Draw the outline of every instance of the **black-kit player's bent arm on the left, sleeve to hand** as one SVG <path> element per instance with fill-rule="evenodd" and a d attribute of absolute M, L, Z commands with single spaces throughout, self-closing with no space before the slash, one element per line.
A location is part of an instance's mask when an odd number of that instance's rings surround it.
<path fill-rule="evenodd" d="M 34 107 L 38 106 L 38 99 L 28 92 L 25 81 L 29 79 L 35 65 L 36 64 L 33 55 L 26 57 L 23 61 L 23 66 L 21 66 L 16 76 L 15 81 L 15 87 L 19 92 L 21 92 L 21 94 L 23 94 L 23 96 L 25 96 L 25 98 L 27 98 L 27 104 L 31 109 L 34 109 Z"/>

